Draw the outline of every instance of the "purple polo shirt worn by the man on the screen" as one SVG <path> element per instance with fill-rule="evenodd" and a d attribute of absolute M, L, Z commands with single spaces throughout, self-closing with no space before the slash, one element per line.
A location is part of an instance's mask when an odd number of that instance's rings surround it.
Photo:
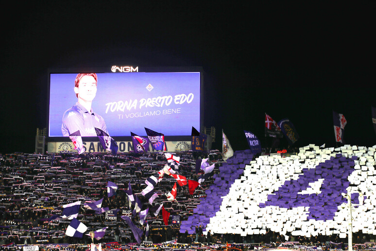
<path fill-rule="evenodd" d="M 63 124 L 61 125 L 63 136 L 69 136 L 76 131 L 80 131 L 83 137 L 97 136 L 94 127 L 108 134 L 103 118 L 93 109 L 88 112 L 79 103 L 66 110 L 63 115 Z"/>

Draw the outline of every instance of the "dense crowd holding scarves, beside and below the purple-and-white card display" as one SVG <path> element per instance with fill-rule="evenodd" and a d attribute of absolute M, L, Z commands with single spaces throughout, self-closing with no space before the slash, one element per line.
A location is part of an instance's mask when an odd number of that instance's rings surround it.
<path fill-rule="evenodd" d="M 196 161 L 209 158 L 210 164 L 215 163 L 212 174 L 219 172 L 222 154 L 218 150 L 207 153 L 180 152 L 174 155 L 180 157 L 180 165 L 175 165 L 176 173 L 187 179 L 198 180 L 202 170 L 196 173 Z M 156 216 L 149 211 L 146 221 L 150 231 L 142 236 L 143 244 L 137 243 L 128 224 L 121 219 L 122 215 L 131 215 L 132 208 L 126 191 L 128 184 L 132 186 L 134 195 L 139 196 L 143 208 L 151 207 L 148 200 L 140 195 L 145 188 L 145 180 L 156 175 L 167 164 L 164 153 L 149 152 L 144 155 L 122 153 L 112 156 L 106 153 L 72 153 L 59 154 L 1 154 L 0 155 L 0 244 L 1 249 L 16 249 L 17 245 L 39 245 L 40 250 L 86 250 L 92 242 L 90 236 L 81 238 L 67 236 L 66 229 L 69 220 L 50 220 L 52 215 L 59 215 L 62 206 L 75 201 L 94 201 L 103 198 L 102 207 L 118 209 L 116 219 L 110 219 L 103 212 L 96 214 L 93 210 L 80 207 L 79 219 L 89 231 L 108 227 L 103 239 L 94 243 L 103 243 L 103 249 L 121 250 L 150 250 L 150 249 L 229 249 L 226 243 L 233 244 L 231 248 L 239 250 L 254 249 L 255 247 L 270 248 L 285 241 L 284 236 L 268 231 L 266 234 L 240 236 L 239 234 L 204 234 L 205 226 L 197 226 L 196 233 L 180 233 L 180 222 L 187 220 L 193 214 L 202 199 L 206 197 L 205 189 L 213 182 L 211 177 L 198 187 L 194 194 L 188 191 L 188 186 L 177 186 L 177 201 L 167 200 L 166 194 L 171 191 L 175 179 L 162 179 L 154 191 L 158 197 L 153 204 L 163 203 L 164 209 L 171 213 L 168 224 L 164 224 L 162 214 Z M 118 185 L 115 196 L 107 196 L 107 181 Z M 144 230 L 145 225 L 139 223 L 139 216 L 133 218 L 135 225 Z M 345 249 L 338 235 L 293 237 L 289 241 L 310 246 L 326 246 L 336 243 Z M 354 234 L 354 243 L 370 241 L 368 235 Z M 104 243 L 107 243 L 105 245 Z M 65 244 L 65 245 L 64 245 Z M 68 245 L 69 244 L 69 245 Z M 158 244 L 158 245 L 156 245 Z M 141 245 L 141 246 L 140 246 Z"/>

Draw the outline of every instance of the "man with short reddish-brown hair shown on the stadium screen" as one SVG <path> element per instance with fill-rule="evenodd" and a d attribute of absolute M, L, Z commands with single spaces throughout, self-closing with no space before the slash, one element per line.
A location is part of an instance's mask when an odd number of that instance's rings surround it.
<path fill-rule="evenodd" d="M 103 118 L 91 108 L 97 93 L 98 77 L 96 73 L 79 73 L 74 81 L 74 92 L 78 102 L 63 115 L 61 131 L 63 136 L 77 135 L 82 137 L 97 136 L 95 127 L 108 134 Z"/>

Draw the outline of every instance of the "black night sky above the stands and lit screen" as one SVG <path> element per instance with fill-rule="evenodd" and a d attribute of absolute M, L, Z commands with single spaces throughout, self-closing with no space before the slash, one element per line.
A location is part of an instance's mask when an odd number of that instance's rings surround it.
<path fill-rule="evenodd" d="M 204 125 L 234 150 L 265 144 L 264 114 L 289 118 L 297 146 L 376 135 L 375 1 L 30 1 L 2 9 L 1 153 L 34 152 L 47 125 L 49 68 L 200 66 Z M 141 125 L 142 126 L 142 125 Z M 263 145 L 264 146 L 264 145 Z"/>

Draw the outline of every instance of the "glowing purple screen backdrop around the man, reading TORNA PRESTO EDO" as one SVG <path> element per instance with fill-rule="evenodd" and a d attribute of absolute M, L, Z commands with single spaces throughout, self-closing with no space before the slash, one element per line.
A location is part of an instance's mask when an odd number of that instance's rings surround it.
<path fill-rule="evenodd" d="M 63 115 L 78 102 L 77 74 L 50 73 L 49 137 L 68 136 L 62 130 Z M 91 108 L 99 115 L 97 122 L 104 121 L 110 136 L 130 136 L 131 132 L 146 135 L 144 127 L 165 136 L 188 136 L 192 126 L 200 128 L 201 72 L 96 74 L 96 93 L 89 98 Z M 72 119 L 77 114 L 70 111 L 66 117 Z M 85 130 L 90 130 L 87 127 L 86 123 Z M 83 130 L 81 136 L 85 136 Z"/>

